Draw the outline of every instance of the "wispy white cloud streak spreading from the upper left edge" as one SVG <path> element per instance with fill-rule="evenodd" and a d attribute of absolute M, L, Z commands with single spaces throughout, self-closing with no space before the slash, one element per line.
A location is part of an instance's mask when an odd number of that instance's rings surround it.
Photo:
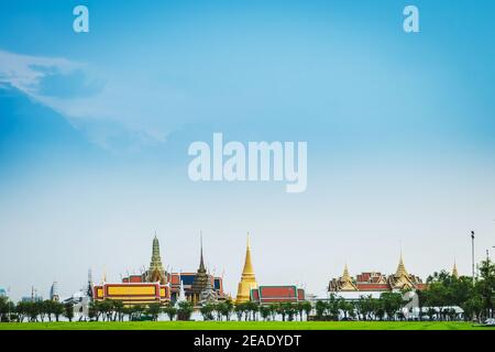
<path fill-rule="evenodd" d="M 57 111 L 100 146 L 122 150 L 128 143 L 135 150 L 161 143 L 180 124 L 167 117 L 164 105 L 177 107 L 182 100 L 173 90 L 101 72 L 66 58 L 0 51 L 0 87 L 14 87 Z"/>

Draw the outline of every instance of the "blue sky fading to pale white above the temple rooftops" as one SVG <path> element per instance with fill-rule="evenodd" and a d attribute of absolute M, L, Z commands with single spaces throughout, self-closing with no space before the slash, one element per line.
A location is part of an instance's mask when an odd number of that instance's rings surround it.
<path fill-rule="evenodd" d="M 73 9 L 89 9 L 75 33 Z M 405 33 L 403 10 L 419 9 Z M 0 11 L 0 287 L 119 280 L 161 241 L 235 295 L 495 253 L 493 1 L 38 1 Z M 194 183 L 187 148 L 308 143 L 308 186 Z M 493 257 L 493 256 L 492 256 Z"/>

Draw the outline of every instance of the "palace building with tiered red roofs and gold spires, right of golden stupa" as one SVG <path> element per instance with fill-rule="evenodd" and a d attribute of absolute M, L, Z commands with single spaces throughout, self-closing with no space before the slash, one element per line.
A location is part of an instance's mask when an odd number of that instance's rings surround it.
<path fill-rule="evenodd" d="M 404 265 L 403 255 L 395 274 L 384 275 L 378 272 L 364 272 L 355 277 L 349 274 L 345 264 L 342 276 L 332 278 L 329 283 L 328 290 L 330 293 L 383 293 L 383 292 L 403 292 L 425 289 L 426 284 L 413 274 L 409 274 Z"/>

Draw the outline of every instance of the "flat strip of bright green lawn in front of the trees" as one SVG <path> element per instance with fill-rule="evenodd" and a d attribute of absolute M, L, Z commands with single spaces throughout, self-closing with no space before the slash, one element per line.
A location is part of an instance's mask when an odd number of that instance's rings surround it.
<path fill-rule="evenodd" d="M 142 321 L 0 323 L 0 330 L 495 330 L 470 322 L 399 321 Z"/>

